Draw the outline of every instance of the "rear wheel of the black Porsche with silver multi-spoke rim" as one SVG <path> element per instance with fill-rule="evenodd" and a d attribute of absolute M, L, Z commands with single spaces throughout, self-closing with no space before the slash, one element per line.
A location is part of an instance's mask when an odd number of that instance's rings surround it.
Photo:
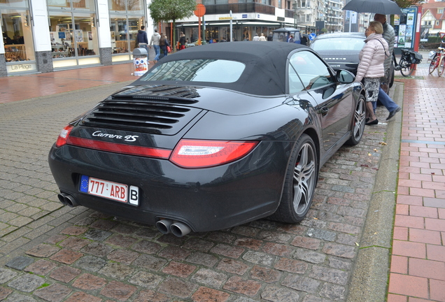
<path fill-rule="evenodd" d="M 301 222 L 311 208 L 317 181 L 316 147 L 312 138 L 303 134 L 292 150 L 280 205 L 270 218 L 279 222 Z"/>

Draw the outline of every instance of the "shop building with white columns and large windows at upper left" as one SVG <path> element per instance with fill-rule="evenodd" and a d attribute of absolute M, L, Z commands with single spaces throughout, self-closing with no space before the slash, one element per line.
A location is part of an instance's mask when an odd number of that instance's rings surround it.
<path fill-rule="evenodd" d="M 148 11 L 144 0 L 0 0 L 0 14 L 6 76 L 132 62 Z"/>

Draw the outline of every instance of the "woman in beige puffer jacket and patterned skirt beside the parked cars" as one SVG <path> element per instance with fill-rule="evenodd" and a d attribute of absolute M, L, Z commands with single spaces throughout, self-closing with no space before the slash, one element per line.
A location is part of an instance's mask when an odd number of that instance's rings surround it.
<path fill-rule="evenodd" d="M 373 21 L 365 31 L 365 46 L 360 51 L 357 76 L 355 82 L 361 82 L 365 85 L 366 91 L 366 109 L 369 117 L 367 125 L 378 124 L 372 102 L 377 101 L 379 96 L 380 78 L 385 75 L 383 62 L 388 55 L 388 43 L 382 36 L 383 26 L 380 22 Z"/>

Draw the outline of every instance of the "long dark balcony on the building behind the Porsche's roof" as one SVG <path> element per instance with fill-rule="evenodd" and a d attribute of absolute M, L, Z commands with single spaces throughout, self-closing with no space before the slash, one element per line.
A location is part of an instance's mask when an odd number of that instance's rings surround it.
<path fill-rule="evenodd" d="M 229 13 L 230 10 L 232 10 L 232 13 L 262 13 L 265 15 L 275 15 L 275 6 L 268 6 L 262 3 L 250 2 L 206 5 L 206 15 L 223 15 Z"/>

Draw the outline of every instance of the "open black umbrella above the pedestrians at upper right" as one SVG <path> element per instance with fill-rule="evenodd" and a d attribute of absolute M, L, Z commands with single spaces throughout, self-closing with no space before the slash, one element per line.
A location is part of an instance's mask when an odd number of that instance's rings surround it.
<path fill-rule="evenodd" d="M 391 0 L 351 0 L 343 10 L 353 10 L 357 13 L 378 13 L 381 15 L 402 15 L 397 3 Z"/>

